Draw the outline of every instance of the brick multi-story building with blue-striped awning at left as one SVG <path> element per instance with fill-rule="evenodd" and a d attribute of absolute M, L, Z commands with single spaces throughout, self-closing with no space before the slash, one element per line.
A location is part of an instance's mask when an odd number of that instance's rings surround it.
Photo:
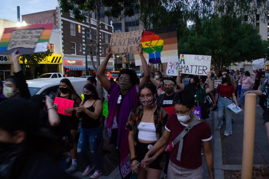
<path fill-rule="evenodd" d="M 39 13 L 22 15 L 22 20 L 27 24 L 45 24 L 54 23 L 54 28 L 59 29 L 59 38 L 57 41 L 61 43 L 59 54 L 62 55 L 63 71 L 68 71 L 68 76 L 81 76 L 86 75 L 85 68 L 85 54 L 87 53 L 88 71 L 90 74 L 94 73 L 93 65 L 97 65 L 96 52 L 100 53 L 100 62 L 106 57 L 106 48 L 113 32 L 113 26 L 100 22 L 100 49 L 96 49 L 96 27 L 97 22 L 95 19 L 90 19 L 92 28 L 93 40 L 93 59 L 94 64 L 90 61 L 89 56 L 89 19 L 86 21 L 76 21 L 72 11 L 62 14 L 59 6 L 55 10 L 48 10 Z M 86 34 L 86 36 L 85 36 Z M 56 40 L 56 39 L 55 39 Z M 86 42 L 86 43 L 85 43 Z M 51 42 L 50 42 L 51 43 Z M 56 60 L 55 60 L 56 61 Z M 58 62 L 58 61 L 57 61 Z M 56 69 L 55 69 L 56 70 Z M 111 58 L 107 66 L 108 71 L 114 70 L 114 59 Z"/>

